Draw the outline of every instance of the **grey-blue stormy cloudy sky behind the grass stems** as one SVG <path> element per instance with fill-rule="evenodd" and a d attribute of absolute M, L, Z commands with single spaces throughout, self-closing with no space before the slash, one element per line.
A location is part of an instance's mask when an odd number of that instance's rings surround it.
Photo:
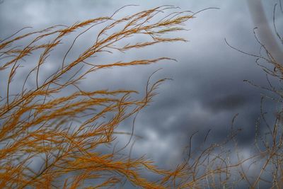
<path fill-rule="evenodd" d="M 268 21 L 272 21 L 275 0 L 263 2 Z M 109 16 L 127 4 L 138 4 L 125 8 L 119 16 L 129 15 L 146 8 L 165 4 L 179 6 L 182 11 L 200 11 L 196 18 L 188 21 L 188 31 L 177 33 L 189 42 L 162 44 L 135 50 L 129 54 L 117 53 L 111 57 L 100 57 L 99 61 L 171 57 L 178 62 L 163 61 L 146 67 L 108 69 L 89 76 L 83 86 L 89 89 L 117 88 L 143 91 L 150 74 L 153 81 L 171 78 L 158 88 L 158 96 L 149 107 L 139 113 L 135 134 L 142 137 L 134 143 L 132 156 L 146 154 L 164 168 L 172 168 L 183 159 L 183 150 L 190 135 L 196 131 L 194 142 L 202 142 L 204 134 L 212 130 L 210 142 L 225 139 L 231 129 L 236 113 L 236 127 L 243 130 L 238 134 L 239 146 L 248 151 L 253 145 L 255 122 L 260 115 L 259 88 L 250 86 L 244 79 L 256 84 L 266 84 L 265 74 L 256 64 L 255 58 L 243 55 L 226 45 L 226 40 L 238 49 L 258 54 L 260 46 L 255 40 L 255 24 L 245 0 L 238 1 L 17 1 L 6 0 L 0 4 L 0 38 L 5 38 L 18 29 L 32 26 L 34 29 L 51 25 L 71 25 L 98 16 Z M 276 22 L 282 28 L 282 15 Z M 272 24 L 270 22 L 270 24 Z M 83 42 L 89 42 L 84 40 Z M 83 44 L 82 42 L 82 44 Z M 79 50 L 79 47 L 76 48 Z M 75 52 L 74 52 L 75 53 Z M 56 61 L 53 57 L 53 61 Z M 108 59 L 109 58 L 109 59 Z M 2 78 L 1 78 L 2 77 Z M 0 76 L 1 87 L 4 86 Z M 270 109 L 270 104 L 265 104 Z M 272 111 L 272 110 L 271 110 Z M 130 132 L 131 120 L 120 125 L 120 131 Z M 264 130 L 264 127 L 262 127 Z M 119 136 L 121 144 L 127 136 Z"/>

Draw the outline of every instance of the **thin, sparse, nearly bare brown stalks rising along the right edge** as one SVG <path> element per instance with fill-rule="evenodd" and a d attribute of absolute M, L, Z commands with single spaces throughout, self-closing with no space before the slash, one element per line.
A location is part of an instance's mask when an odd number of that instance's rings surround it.
<path fill-rule="evenodd" d="M 277 4 L 273 9 L 273 32 L 279 41 L 279 46 L 283 45 L 282 31 L 278 30 L 276 23 L 276 15 L 282 15 L 281 1 L 279 1 L 280 9 Z M 282 29 L 282 28 L 281 28 Z M 248 188 L 283 188 L 283 55 L 276 54 L 269 50 L 263 44 L 257 35 L 258 28 L 254 29 L 255 40 L 260 46 L 259 54 L 252 54 L 233 47 L 251 57 L 256 58 L 256 64 L 264 71 L 267 84 L 257 84 L 256 81 L 248 81 L 248 84 L 260 88 L 265 91 L 260 93 L 260 116 L 255 122 L 255 142 L 250 145 L 250 149 L 254 149 L 254 153 L 248 159 L 249 164 L 243 168 L 243 164 L 239 164 L 238 173 L 240 181 L 245 183 Z M 277 52 L 282 53 L 282 49 Z M 272 108 L 268 108 L 269 105 Z"/>

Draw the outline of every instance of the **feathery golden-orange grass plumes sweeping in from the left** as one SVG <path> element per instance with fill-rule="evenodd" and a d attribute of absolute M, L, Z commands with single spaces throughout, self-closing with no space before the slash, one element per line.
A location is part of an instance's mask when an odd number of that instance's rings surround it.
<path fill-rule="evenodd" d="M 118 18 L 119 12 L 70 26 L 54 25 L 21 34 L 24 28 L 1 40 L 0 71 L 7 76 L 7 82 L 2 89 L 6 95 L 0 99 L 0 188 L 86 185 L 111 188 L 122 185 L 125 180 L 142 188 L 168 188 L 175 187 L 176 180 L 184 176 L 183 166 L 167 171 L 157 168 L 144 156 L 132 159 L 122 154 L 122 149 L 113 148 L 109 153 L 100 149 L 114 144 L 119 124 L 148 105 L 165 79 L 152 85 L 148 82 L 144 97 L 139 99 L 132 97 L 138 91 L 86 91 L 81 89 L 80 82 L 100 69 L 172 59 L 157 57 L 97 64 L 93 57 L 102 56 L 103 52 L 127 53 L 161 42 L 185 41 L 165 35 L 184 30 L 182 25 L 193 18 L 192 13 L 177 12 L 173 6 L 152 8 L 124 18 Z M 68 59 L 77 39 L 98 27 L 102 29 L 91 39 L 93 44 L 81 47 L 78 57 Z M 76 37 L 67 47 L 62 62 L 48 62 L 49 56 L 71 34 Z M 129 39 L 133 35 L 145 35 L 149 40 L 131 43 Z M 36 62 L 25 62 L 30 56 L 37 57 Z M 58 69 L 46 76 L 46 64 L 56 64 Z M 23 71 L 23 67 L 28 71 Z M 15 78 L 23 80 L 23 84 L 19 86 L 21 81 L 13 81 Z M 34 85 L 27 86 L 28 81 Z M 67 93 L 69 88 L 72 91 Z M 144 170 L 156 173 L 161 179 L 144 178 L 141 176 Z"/>

